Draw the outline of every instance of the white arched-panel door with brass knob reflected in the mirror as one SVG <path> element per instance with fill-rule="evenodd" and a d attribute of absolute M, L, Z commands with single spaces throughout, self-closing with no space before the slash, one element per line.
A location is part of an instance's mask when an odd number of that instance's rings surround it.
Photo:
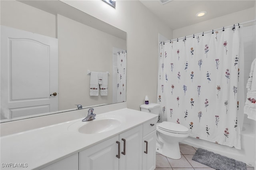
<path fill-rule="evenodd" d="M 1 118 L 58 111 L 58 39 L 1 26 L 0 83 Z"/>

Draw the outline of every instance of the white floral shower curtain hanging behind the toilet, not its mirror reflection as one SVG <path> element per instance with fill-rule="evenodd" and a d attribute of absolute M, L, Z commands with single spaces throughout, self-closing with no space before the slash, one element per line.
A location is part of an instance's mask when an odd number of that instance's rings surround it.
<path fill-rule="evenodd" d="M 160 121 L 240 149 L 244 107 L 242 26 L 160 43 Z M 241 105 L 241 106 L 240 106 Z"/>

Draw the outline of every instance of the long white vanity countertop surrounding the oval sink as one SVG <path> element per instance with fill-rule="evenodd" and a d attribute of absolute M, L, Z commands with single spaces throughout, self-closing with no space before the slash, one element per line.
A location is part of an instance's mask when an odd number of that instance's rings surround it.
<path fill-rule="evenodd" d="M 98 115 L 95 114 L 97 119 Z M 158 115 L 127 108 L 99 115 L 123 117 L 124 122 L 118 128 L 98 134 L 82 134 L 76 130 L 68 130 L 68 127 L 73 123 L 82 121 L 82 119 L 76 119 L 2 136 L 0 138 L 1 164 L 23 163 L 28 164 L 28 167 L 20 169 L 40 169 L 126 130 L 142 125 L 150 119 L 156 119 L 156 121 L 158 119 Z M 1 169 L 4 168 L 1 166 Z"/>

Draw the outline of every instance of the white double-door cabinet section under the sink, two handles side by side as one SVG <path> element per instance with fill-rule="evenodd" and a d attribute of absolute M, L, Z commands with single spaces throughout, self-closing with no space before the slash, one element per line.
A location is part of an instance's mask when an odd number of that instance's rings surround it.
<path fill-rule="evenodd" d="M 142 169 L 142 125 L 79 152 L 79 170 Z"/>

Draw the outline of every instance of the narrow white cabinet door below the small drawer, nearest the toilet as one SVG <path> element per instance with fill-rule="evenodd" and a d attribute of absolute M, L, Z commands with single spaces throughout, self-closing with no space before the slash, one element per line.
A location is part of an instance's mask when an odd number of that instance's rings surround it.
<path fill-rule="evenodd" d="M 156 168 L 156 130 L 143 137 L 142 169 Z"/>

